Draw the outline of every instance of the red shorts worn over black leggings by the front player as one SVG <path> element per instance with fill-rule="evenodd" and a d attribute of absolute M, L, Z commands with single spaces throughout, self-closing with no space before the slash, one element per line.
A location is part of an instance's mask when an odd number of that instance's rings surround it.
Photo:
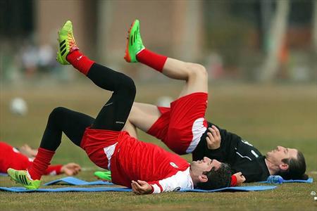
<path fill-rule="evenodd" d="M 120 141 L 123 132 L 106 129 L 90 129 L 87 127 L 80 147 L 83 148 L 89 159 L 97 166 L 110 170 L 111 156 Z"/>

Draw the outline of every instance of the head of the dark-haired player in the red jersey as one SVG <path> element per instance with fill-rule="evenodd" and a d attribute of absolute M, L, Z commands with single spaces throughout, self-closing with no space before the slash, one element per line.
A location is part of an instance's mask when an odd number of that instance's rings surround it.
<path fill-rule="evenodd" d="M 190 170 L 197 178 L 197 187 L 204 190 L 230 186 L 231 170 L 228 164 L 204 157 L 193 161 Z"/>

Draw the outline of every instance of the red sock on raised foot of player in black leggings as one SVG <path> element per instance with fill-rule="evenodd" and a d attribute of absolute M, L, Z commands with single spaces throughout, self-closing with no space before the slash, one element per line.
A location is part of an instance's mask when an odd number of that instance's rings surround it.
<path fill-rule="evenodd" d="M 82 54 L 79 50 L 73 51 L 66 57 L 68 62 L 73 65 L 73 67 L 83 74 L 87 75 L 89 69 L 94 64 L 93 60 L 90 60 L 87 56 Z"/>

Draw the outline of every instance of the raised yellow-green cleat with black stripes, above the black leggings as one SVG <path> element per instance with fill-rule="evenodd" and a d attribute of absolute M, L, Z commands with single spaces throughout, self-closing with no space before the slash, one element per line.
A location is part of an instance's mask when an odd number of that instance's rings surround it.
<path fill-rule="evenodd" d="M 61 30 L 58 31 L 58 51 L 56 60 L 62 65 L 69 65 L 66 60 L 68 53 L 78 50 L 73 34 L 73 24 L 67 20 Z"/>

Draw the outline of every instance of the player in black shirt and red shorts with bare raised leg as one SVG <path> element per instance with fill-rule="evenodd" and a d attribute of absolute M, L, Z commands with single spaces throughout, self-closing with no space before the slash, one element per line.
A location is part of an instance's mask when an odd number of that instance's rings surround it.
<path fill-rule="evenodd" d="M 138 20 L 128 38 L 125 60 L 129 63 L 143 63 L 163 75 L 186 81 L 170 108 L 134 103 L 128 122 L 161 139 L 175 153 L 192 153 L 193 160 L 208 157 L 228 162 L 233 173 L 242 172 L 247 182 L 264 181 L 275 174 L 284 179 L 307 179 L 304 155 L 297 149 L 278 146 L 263 156 L 240 136 L 206 121 L 208 82 L 203 66 L 146 49 Z"/>

